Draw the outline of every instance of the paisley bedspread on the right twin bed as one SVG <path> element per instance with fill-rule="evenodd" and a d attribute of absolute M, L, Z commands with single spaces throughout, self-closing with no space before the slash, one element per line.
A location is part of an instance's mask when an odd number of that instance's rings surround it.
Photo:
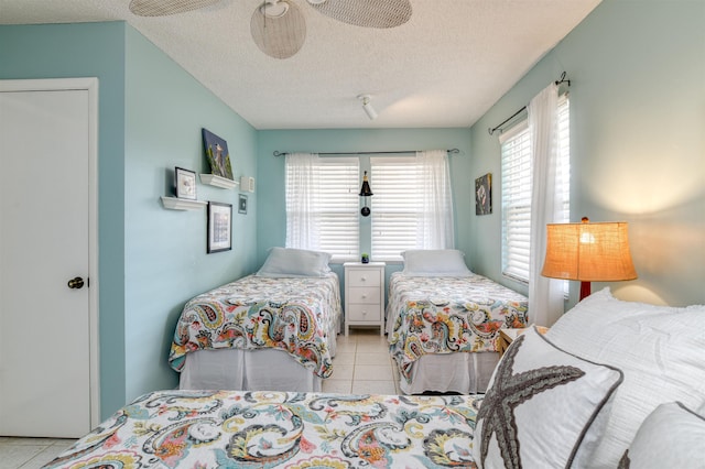
<path fill-rule="evenodd" d="M 500 328 L 529 324 L 525 296 L 481 275 L 406 276 L 389 281 L 390 351 L 411 382 L 413 364 L 426 353 L 497 351 Z"/>

